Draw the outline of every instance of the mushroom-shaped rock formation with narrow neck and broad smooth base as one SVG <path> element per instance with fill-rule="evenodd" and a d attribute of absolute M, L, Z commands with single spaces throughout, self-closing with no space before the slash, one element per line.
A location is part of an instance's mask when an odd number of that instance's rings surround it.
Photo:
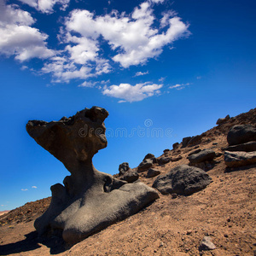
<path fill-rule="evenodd" d="M 68 243 L 76 243 L 159 197 L 144 183 L 126 183 L 93 166 L 94 154 L 107 147 L 103 123 L 107 117 L 104 108 L 93 107 L 59 121 L 27 123 L 29 135 L 71 172 L 64 186 L 51 187 L 50 206 L 34 224 L 39 235 L 61 235 Z"/>

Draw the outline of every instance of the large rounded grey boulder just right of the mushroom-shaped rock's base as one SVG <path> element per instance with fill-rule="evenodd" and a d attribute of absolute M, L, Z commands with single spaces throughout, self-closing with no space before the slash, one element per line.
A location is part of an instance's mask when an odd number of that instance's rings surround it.
<path fill-rule="evenodd" d="M 194 166 L 177 166 L 164 175 L 158 176 L 153 188 L 158 189 L 163 195 L 176 193 L 177 195 L 192 195 L 205 189 L 212 178 L 207 172 Z"/>

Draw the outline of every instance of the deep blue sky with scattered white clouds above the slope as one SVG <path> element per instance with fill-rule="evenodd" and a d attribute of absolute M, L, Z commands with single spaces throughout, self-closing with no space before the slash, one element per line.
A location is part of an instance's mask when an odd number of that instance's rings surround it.
<path fill-rule="evenodd" d="M 106 108 L 94 164 L 114 174 L 255 108 L 255 12 L 253 0 L 0 0 L 0 211 L 69 174 L 29 119 Z"/>

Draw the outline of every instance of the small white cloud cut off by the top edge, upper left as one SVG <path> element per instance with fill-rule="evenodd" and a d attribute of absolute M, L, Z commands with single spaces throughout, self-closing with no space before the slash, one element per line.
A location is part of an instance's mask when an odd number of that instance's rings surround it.
<path fill-rule="evenodd" d="M 50 14 L 54 11 L 55 4 L 61 5 L 61 10 L 67 9 L 69 0 L 20 0 L 20 2 L 26 3 L 42 13 Z"/>

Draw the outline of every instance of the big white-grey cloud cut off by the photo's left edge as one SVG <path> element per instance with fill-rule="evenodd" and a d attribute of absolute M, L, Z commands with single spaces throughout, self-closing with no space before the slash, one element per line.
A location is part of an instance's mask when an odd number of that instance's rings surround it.
<path fill-rule="evenodd" d="M 48 35 L 32 27 L 35 20 L 32 16 L 15 5 L 5 5 L 0 0 L 0 53 L 15 55 L 19 61 L 32 58 L 47 59 L 55 55 L 48 49 L 46 39 Z"/>

